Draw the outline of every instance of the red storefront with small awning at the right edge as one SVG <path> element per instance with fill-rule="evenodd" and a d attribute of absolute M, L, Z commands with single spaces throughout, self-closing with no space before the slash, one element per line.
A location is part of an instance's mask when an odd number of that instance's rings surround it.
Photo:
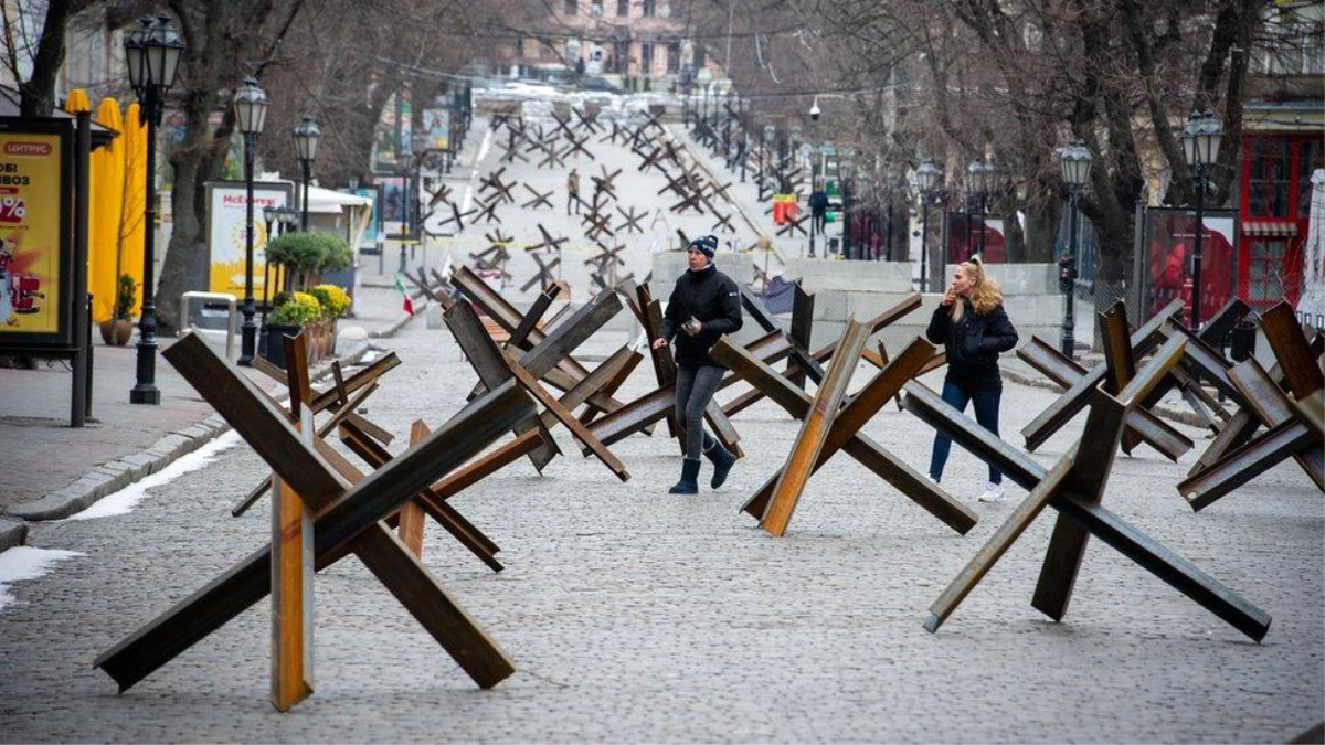
<path fill-rule="evenodd" d="M 1255 133 L 1243 138 L 1238 296 L 1253 308 L 1297 305 L 1312 171 L 1325 168 L 1325 135 Z"/>

